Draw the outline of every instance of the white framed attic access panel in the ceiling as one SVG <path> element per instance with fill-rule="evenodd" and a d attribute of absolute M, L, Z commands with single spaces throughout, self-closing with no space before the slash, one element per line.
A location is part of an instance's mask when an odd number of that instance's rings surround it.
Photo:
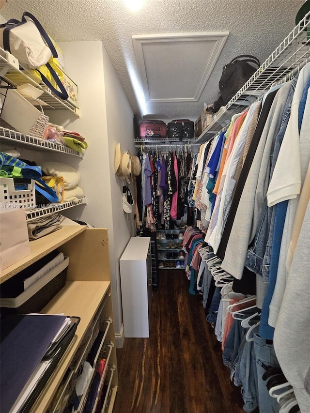
<path fill-rule="evenodd" d="M 228 35 L 133 35 L 145 101 L 198 102 Z"/>

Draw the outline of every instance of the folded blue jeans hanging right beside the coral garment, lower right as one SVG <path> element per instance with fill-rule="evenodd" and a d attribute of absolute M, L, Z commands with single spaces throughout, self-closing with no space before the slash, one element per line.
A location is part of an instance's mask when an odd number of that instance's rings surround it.
<path fill-rule="evenodd" d="M 246 318 L 247 316 L 240 315 L 240 318 Z M 230 329 L 225 341 L 225 347 L 223 351 L 223 363 L 225 366 L 231 368 L 235 359 L 238 356 L 240 343 L 246 334 L 246 329 L 241 326 L 240 320 L 234 320 L 232 328 Z"/>

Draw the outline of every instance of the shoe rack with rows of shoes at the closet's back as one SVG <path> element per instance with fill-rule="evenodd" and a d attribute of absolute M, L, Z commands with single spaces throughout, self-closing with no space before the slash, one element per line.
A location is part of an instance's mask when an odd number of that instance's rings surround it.
<path fill-rule="evenodd" d="M 158 229 L 156 232 L 159 270 L 184 269 L 185 253 L 182 248 L 185 229 Z"/>

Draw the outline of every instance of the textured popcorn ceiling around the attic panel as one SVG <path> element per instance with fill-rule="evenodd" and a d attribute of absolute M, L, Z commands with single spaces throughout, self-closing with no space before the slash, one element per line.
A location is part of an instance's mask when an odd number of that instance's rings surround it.
<path fill-rule="evenodd" d="M 257 56 L 262 63 L 294 28 L 295 15 L 303 2 L 145 0 L 138 12 L 131 12 L 123 0 L 8 0 L 1 14 L 6 19 L 20 19 L 23 11 L 31 12 L 58 42 L 102 40 L 134 112 L 149 119 L 196 119 L 203 102 L 217 99 L 222 66 L 240 54 Z M 141 105 L 132 35 L 200 31 L 230 33 L 200 100 Z M 191 67 L 188 79 L 194 71 Z M 165 61 L 160 76 L 165 77 Z"/>

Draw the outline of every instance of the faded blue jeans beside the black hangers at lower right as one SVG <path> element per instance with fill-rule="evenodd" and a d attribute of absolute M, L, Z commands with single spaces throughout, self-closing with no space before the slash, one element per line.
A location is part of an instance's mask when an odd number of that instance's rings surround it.
<path fill-rule="evenodd" d="M 266 344 L 266 340 L 254 334 L 254 351 L 256 358 L 258 404 L 260 412 L 278 413 L 279 404 L 276 398 L 269 395 L 266 382 L 263 381 L 263 374 L 273 367 L 279 367 L 273 344 Z"/>

